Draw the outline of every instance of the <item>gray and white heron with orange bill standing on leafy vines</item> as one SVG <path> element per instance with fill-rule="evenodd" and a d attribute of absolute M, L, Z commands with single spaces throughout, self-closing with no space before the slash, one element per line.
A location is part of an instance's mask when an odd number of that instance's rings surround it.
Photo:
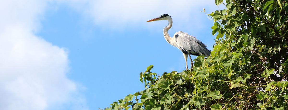
<path fill-rule="evenodd" d="M 168 21 L 168 26 L 164 27 L 163 29 L 164 38 L 169 44 L 181 50 L 186 62 L 186 70 L 188 70 L 187 56 L 189 56 L 191 60 L 190 71 L 192 71 L 194 64 L 190 55 L 204 56 L 204 57 L 210 56 L 211 51 L 206 48 L 207 46 L 204 43 L 196 39 L 196 37 L 194 36 L 191 36 L 182 31 L 176 32 L 173 37 L 169 36 L 168 30 L 172 27 L 173 21 L 171 16 L 169 16 L 168 14 L 163 14 L 160 17 L 148 20 L 147 22 L 159 21 L 159 20 Z"/>

